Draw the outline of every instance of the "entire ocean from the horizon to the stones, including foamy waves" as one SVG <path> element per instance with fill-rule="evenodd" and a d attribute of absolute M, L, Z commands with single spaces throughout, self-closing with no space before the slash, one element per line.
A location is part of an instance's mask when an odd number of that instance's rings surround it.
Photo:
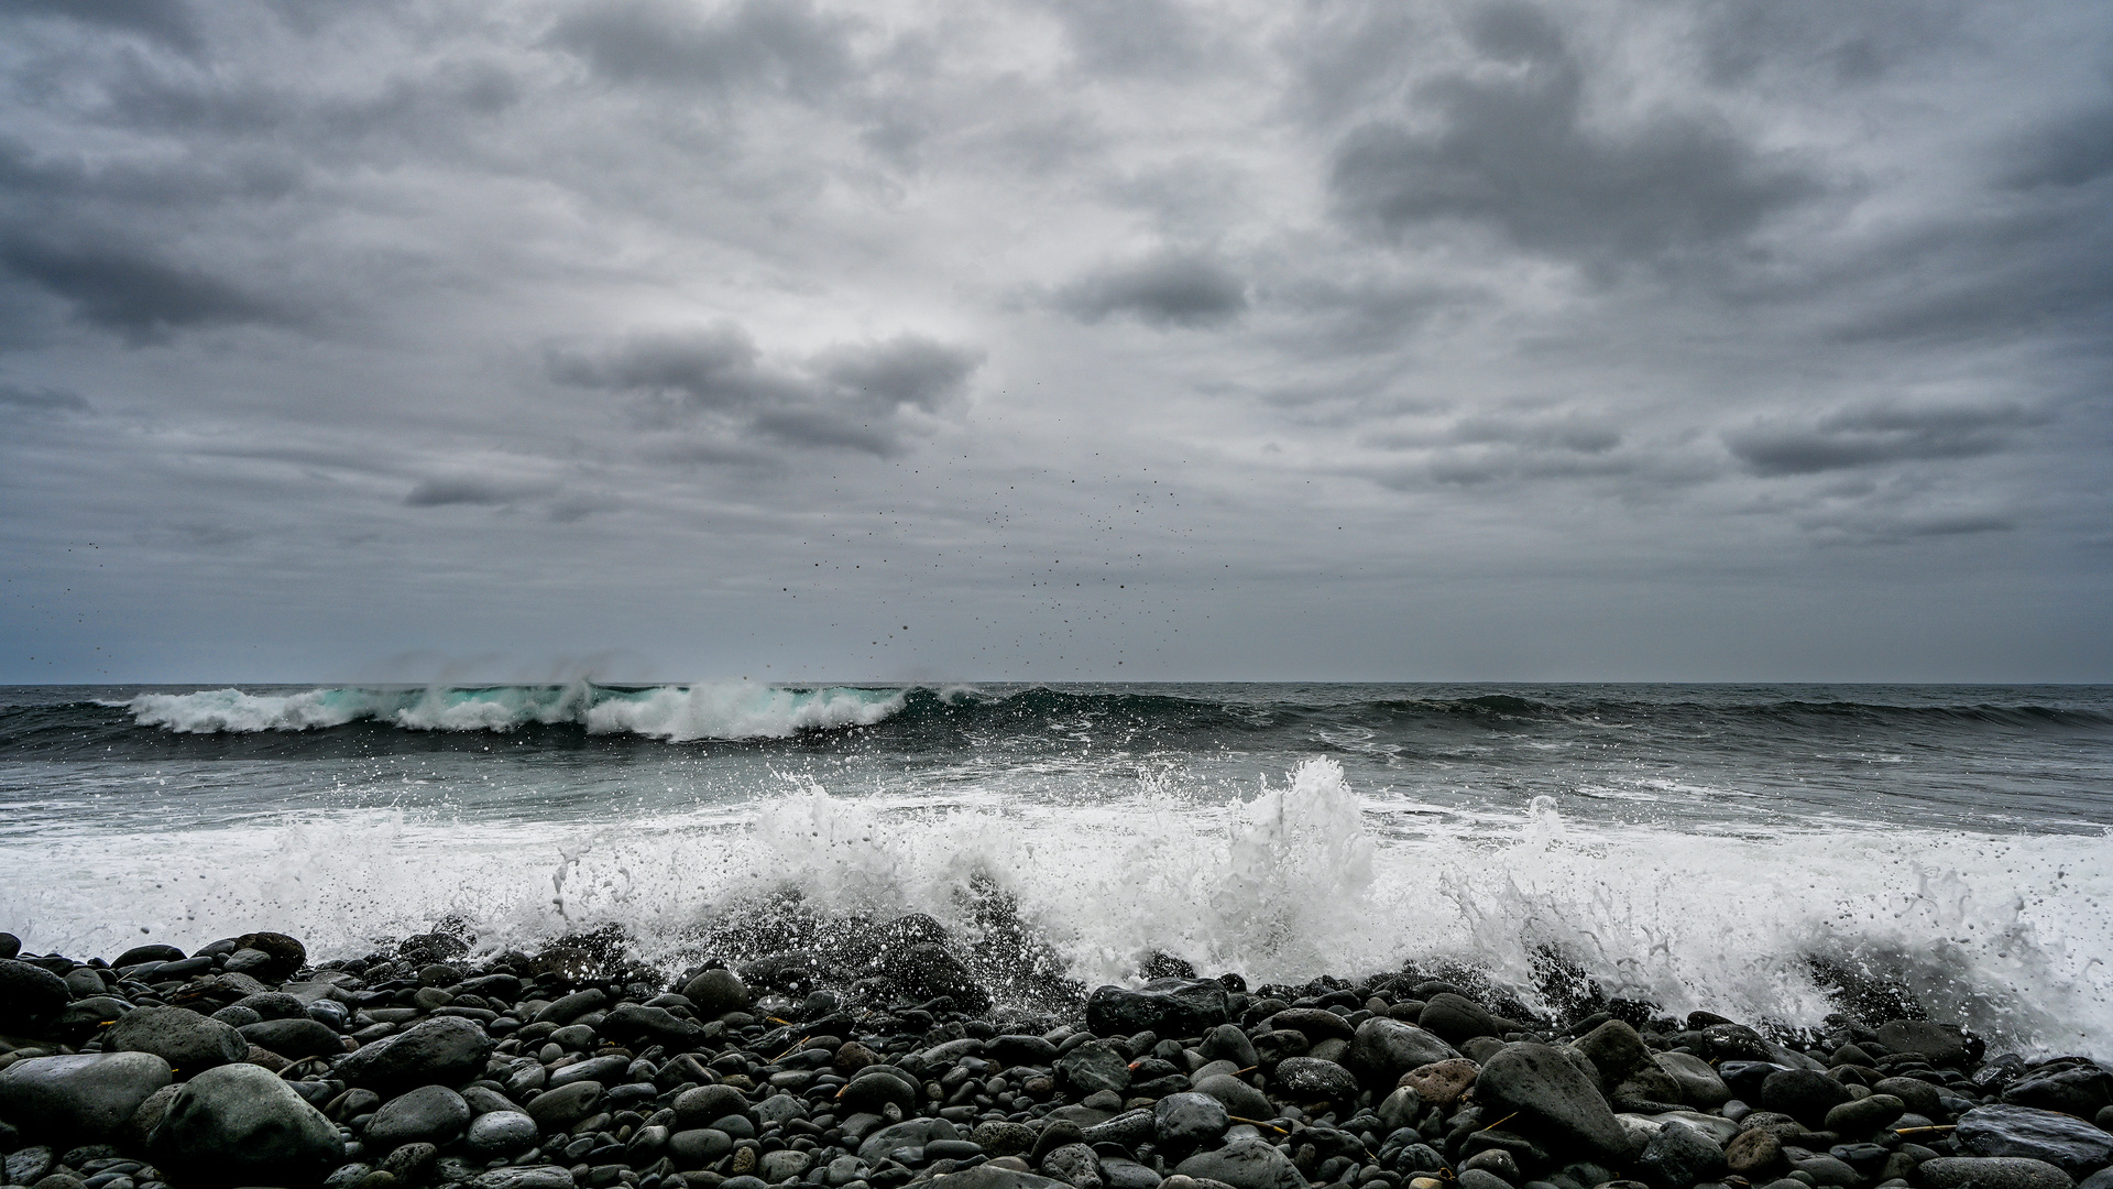
<path fill-rule="evenodd" d="M 355 956 L 756 897 L 978 929 L 1073 980 L 1547 971 L 1817 1024 L 1857 986 L 2113 1056 L 2113 688 L 4 688 L 0 929 Z"/>

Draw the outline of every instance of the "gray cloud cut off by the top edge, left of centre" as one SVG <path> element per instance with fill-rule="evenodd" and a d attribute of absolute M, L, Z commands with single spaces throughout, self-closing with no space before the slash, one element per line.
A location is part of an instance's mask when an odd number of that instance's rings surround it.
<path fill-rule="evenodd" d="M 564 15 L 549 40 L 619 83 L 771 87 L 814 99 L 852 78 L 852 28 L 805 0 L 613 0 Z"/>

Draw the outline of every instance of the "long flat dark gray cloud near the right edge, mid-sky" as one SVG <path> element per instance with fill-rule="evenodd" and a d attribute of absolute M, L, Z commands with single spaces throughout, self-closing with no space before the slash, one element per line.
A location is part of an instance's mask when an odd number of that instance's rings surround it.
<path fill-rule="evenodd" d="M 1754 474 L 1819 474 L 1866 465 L 1993 455 L 2037 419 L 2018 406 L 1845 408 L 1811 425 L 1754 423 L 1724 436 Z"/>

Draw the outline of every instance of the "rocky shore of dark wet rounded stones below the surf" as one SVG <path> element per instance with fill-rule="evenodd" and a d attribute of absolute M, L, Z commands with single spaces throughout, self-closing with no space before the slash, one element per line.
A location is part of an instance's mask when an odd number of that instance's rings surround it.
<path fill-rule="evenodd" d="M 1583 977 L 1551 1016 L 1460 967 L 1251 988 L 1154 956 L 1086 992 L 972 967 L 930 918 L 828 933 L 672 980 L 617 931 L 317 965 L 281 933 L 108 961 L 0 935 L 4 1183 L 2113 1189 L 2113 1073 L 1904 994 L 1794 1030 Z"/>

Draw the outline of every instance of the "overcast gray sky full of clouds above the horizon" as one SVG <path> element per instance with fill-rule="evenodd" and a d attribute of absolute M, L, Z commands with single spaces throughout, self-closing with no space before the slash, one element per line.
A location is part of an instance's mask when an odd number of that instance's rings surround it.
<path fill-rule="evenodd" d="M 2113 6 L 13 0 L 0 681 L 2109 681 Z"/>

